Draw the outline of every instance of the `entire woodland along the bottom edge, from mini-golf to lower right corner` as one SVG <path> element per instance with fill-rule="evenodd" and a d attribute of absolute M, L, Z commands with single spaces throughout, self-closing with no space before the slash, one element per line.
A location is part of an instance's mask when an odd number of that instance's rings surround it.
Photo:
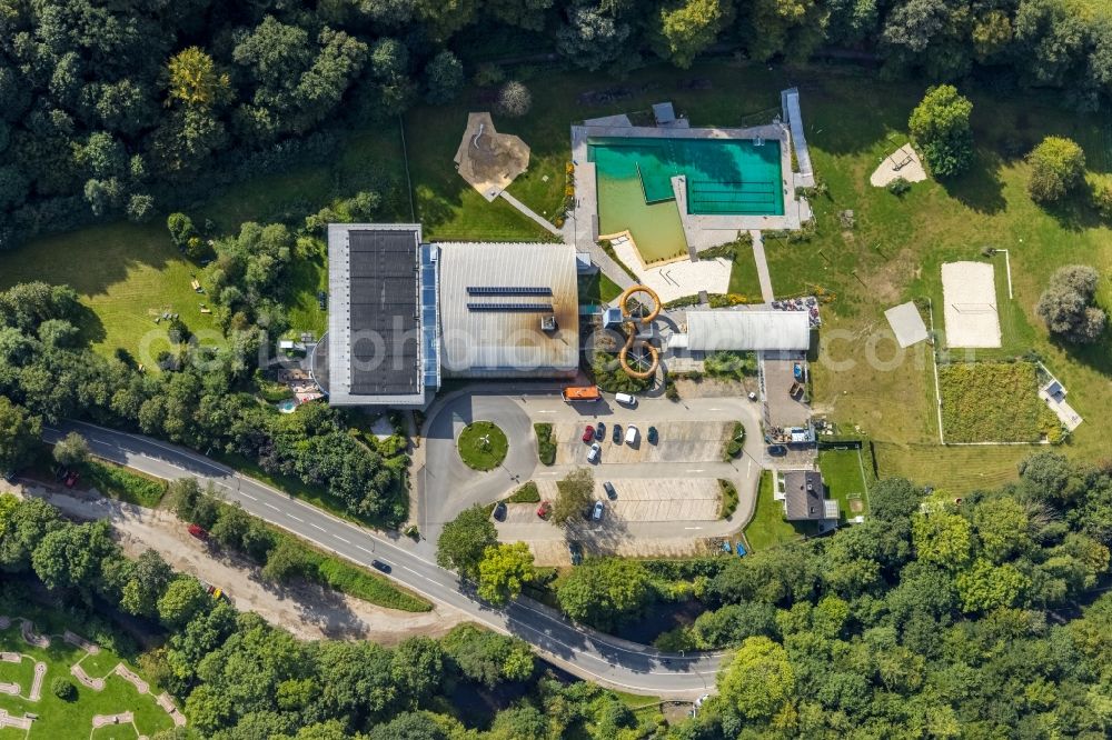
<path fill-rule="evenodd" d="M 157 553 L 123 557 L 106 522 L 69 523 L 34 499 L 0 497 L 0 569 L 75 613 L 145 620 L 161 647 L 136 659 L 202 737 L 1108 737 L 1112 470 L 1041 453 L 1017 483 L 960 501 L 898 479 L 871 498 L 865 524 L 728 559 L 701 584 L 716 608 L 662 643 L 733 654 L 717 694 L 671 727 L 474 626 L 393 650 L 298 642 Z M 135 654 L 92 623 L 91 637 Z M 476 693 L 486 711 L 465 709 Z"/>

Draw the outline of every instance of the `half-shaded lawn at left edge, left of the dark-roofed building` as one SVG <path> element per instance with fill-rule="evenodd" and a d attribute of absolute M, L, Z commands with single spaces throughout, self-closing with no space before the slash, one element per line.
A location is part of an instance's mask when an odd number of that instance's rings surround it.
<path fill-rule="evenodd" d="M 170 349 L 166 324 L 156 326 L 155 313 L 180 313 L 202 344 L 224 343 L 211 314 L 200 312 L 211 299 L 190 287 L 197 271 L 160 220 L 90 227 L 0 252 L 0 289 L 32 280 L 69 284 L 89 309 L 80 328 L 92 348 L 106 356 L 126 349 L 148 368 Z"/>

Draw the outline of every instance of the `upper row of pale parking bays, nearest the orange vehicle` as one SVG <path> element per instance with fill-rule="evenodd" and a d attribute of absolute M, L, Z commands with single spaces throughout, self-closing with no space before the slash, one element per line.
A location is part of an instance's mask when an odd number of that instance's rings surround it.
<path fill-rule="evenodd" d="M 583 441 L 587 424 L 597 422 L 585 419 L 582 423 L 555 423 L 553 436 L 556 442 L 557 464 L 586 464 L 590 444 Z M 619 420 L 618 423 L 622 423 Z M 722 460 L 722 448 L 734 429 L 728 421 L 662 421 L 645 423 L 638 419 L 637 442 L 626 444 L 625 440 L 615 444 L 612 440 L 613 422 L 606 422 L 606 433 L 598 443 L 602 446 L 600 460 L 607 462 L 703 462 Z M 649 444 L 646 439 L 649 426 L 656 427 L 659 440 Z M 626 424 L 622 423 L 623 434 Z"/>

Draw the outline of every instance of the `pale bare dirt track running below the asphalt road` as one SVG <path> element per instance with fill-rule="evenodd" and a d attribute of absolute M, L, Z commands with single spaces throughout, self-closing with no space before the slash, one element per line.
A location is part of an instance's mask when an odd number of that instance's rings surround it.
<path fill-rule="evenodd" d="M 86 500 L 42 489 L 27 493 L 44 498 L 63 512 L 82 519 L 109 518 L 128 554 L 156 550 L 175 570 L 192 573 L 225 589 L 236 608 L 254 611 L 298 638 L 367 639 L 394 644 L 407 637 L 437 637 L 465 621 L 447 607 L 411 613 L 384 609 L 311 584 L 287 588 L 262 581 L 258 568 L 241 558 L 214 553 L 189 536 L 177 517 L 106 499 Z"/>

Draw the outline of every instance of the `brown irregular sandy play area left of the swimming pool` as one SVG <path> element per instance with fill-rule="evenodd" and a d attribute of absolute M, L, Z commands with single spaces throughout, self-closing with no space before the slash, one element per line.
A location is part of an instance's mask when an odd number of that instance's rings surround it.
<path fill-rule="evenodd" d="M 492 201 L 528 169 L 529 147 L 520 137 L 498 133 L 490 113 L 468 113 L 455 162 L 459 177 Z"/>

